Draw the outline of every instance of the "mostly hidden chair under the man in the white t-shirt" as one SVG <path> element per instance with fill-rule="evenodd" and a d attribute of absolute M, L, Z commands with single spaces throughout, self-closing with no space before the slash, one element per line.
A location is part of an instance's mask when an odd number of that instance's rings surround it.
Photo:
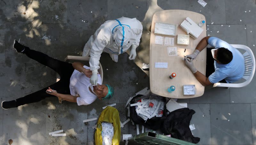
<path fill-rule="evenodd" d="M 75 61 L 80 62 L 80 61 L 89 61 L 89 60 L 90 60 L 90 57 L 70 56 L 70 55 L 68 55 L 68 56 L 64 59 L 64 61 L 66 61 L 66 62 L 75 62 Z M 103 82 L 103 69 L 102 69 L 102 66 L 101 66 L 100 63 L 99 63 L 99 66 L 100 66 L 99 74 L 100 74 L 101 83 L 102 83 L 102 82 Z M 57 73 L 57 80 L 56 80 L 56 82 L 60 80 L 59 78 L 60 78 L 60 77 L 59 77 L 59 74 Z"/>

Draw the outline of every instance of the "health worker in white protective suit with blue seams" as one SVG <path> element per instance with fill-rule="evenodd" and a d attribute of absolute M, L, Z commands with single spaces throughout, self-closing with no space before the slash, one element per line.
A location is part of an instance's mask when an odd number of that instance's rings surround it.
<path fill-rule="evenodd" d="M 130 60 L 136 57 L 136 48 L 139 46 L 142 34 L 142 24 L 136 18 L 118 18 L 108 20 L 102 24 L 90 37 L 84 46 L 83 56 L 91 56 L 90 82 L 96 85 L 101 53 L 107 52 L 113 61 L 118 61 L 118 55 L 131 47 Z"/>

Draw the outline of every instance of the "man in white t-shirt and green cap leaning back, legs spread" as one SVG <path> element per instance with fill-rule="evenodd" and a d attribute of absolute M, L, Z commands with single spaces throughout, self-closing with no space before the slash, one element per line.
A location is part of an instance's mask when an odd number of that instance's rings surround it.
<path fill-rule="evenodd" d="M 99 99 L 109 99 L 113 96 L 113 88 L 109 85 L 102 85 L 100 74 L 98 74 L 97 86 L 90 83 L 92 71 L 88 66 L 80 62 L 71 64 L 54 59 L 42 52 L 31 50 L 16 40 L 13 43 L 13 48 L 16 52 L 26 54 L 29 58 L 56 71 L 60 75 L 60 80 L 46 88 L 16 100 L 3 101 L 1 104 L 3 109 L 39 102 L 46 97 L 52 96 L 57 96 L 59 100 L 76 102 L 78 105 L 91 104 L 97 97 Z"/>

